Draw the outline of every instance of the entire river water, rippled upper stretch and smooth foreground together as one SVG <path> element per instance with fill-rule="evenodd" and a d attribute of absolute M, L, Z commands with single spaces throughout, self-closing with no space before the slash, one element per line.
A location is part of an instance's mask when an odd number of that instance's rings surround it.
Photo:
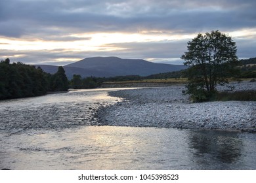
<path fill-rule="evenodd" d="M 108 91 L 1 101 L 0 169 L 256 169 L 255 133 L 98 124 Z"/>

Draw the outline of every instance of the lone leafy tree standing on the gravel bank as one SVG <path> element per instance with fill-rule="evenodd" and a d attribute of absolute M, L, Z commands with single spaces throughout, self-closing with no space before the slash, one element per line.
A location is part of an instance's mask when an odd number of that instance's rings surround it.
<path fill-rule="evenodd" d="M 227 78 L 238 71 L 236 42 L 224 33 L 211 31 L 199 33 L 187 48 L 181 56 L 188 66 L 186 93 L 193 101 L 206 101 L 216 92 L 217 84 L 226 84 Z"/>

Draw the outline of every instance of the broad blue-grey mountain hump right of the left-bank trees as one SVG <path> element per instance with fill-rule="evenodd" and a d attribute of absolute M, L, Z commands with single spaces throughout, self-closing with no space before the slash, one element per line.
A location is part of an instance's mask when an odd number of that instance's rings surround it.
<path fill-rule="evenodd" d="M 152 63 L 143 59 L 121 59 L 117 57 L 85 58 L 65 67 L 89 69 L 102 73 L 104 76 L 140 75 L 148 76 L 185 69 L 184 65 Z M 96 75 L 95 75 L 96 76 Z"/>

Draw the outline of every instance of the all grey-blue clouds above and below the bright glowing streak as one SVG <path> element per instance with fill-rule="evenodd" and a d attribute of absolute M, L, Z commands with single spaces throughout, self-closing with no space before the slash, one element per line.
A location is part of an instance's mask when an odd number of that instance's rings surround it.
<path fill-rule="evenodd" d="M 256 29 L 255 0 L 1 0 L 0 37 L 41 39 L 43 41 L 81 41 L 76 33 L 162 31 L 181 34 L 219 29 L 236 31 Z M 122 58 L 180 58 L 186 42 L 130 42 L 109 44 L 123 48 L 108 52 L 104 46 L 98 52 L 39 50 L 23 52 L 28 63 L 57 58 L 89 56 L 120 56 Z M 115 41 L 113 41 L 115 42 Z M 253 57 L 255 38 L 238 40 L 238 56 Z M 106 45 L 105 45 L 106 46 Z M 104 50 L 105 49 L 105 50 Z M 12 56 L 16 51 L 4 50 L 0 56 Z M 16 57 L 12 57 L 16 59 Z M 66 63 L 66 62 L 65 62 Z"/>

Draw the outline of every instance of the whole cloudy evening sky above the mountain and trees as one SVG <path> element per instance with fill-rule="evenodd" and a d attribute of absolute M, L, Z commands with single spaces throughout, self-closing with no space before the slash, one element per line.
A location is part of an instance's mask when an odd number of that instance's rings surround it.
<path fill-rule="evenodd" d="M 117 56 L 182 64 L 187 42 L 219 30 L 256 57 L 255 0 L 1 0 L 0 59 L 67 65 Z"/>

